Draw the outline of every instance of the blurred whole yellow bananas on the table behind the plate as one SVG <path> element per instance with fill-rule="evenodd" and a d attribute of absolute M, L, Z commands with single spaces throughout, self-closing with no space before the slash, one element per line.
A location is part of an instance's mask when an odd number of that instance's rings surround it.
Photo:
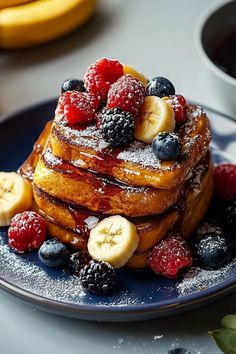
<path fill-rule="evenodd" d="M 8 4 L 20 5 L 3 8 Z M 23 48 L 69 33 L 93 14 L 96 0 L 0 0 L 0 47 Z"/>

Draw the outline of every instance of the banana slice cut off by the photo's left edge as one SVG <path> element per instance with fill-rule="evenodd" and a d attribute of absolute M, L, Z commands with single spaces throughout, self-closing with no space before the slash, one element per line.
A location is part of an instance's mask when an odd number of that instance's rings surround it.
<path fill-rule="evenodd" d="M 29 209 L 32 188 L 16 172 L 0 172 L 0 226 L 8 226 L 17 213 Z"/>

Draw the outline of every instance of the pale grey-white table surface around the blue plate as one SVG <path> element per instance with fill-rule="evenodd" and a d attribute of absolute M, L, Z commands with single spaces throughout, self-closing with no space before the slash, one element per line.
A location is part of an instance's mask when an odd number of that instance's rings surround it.
<path fill-rule="evenodd" d="M 62 1 L 62 0 L 58 0 Z M 221 1 L 223 2 L 223 1 Z M 130 63 L 148 78 L 166 76 L 176 91 L 221 112 L 195 49 L 199 17 L 215 0 L 100 0 L 81 30 L 48 45 L 0 51 L 0 113 L 55 97 L 102 56 Z M 141 323 L 106 324 L 36 311 L 0 292 L 1 354 L 165 354 L 182 346 L 217 354 L 207 331 L 235 313 L 235 293 L 201 309 Z"/>

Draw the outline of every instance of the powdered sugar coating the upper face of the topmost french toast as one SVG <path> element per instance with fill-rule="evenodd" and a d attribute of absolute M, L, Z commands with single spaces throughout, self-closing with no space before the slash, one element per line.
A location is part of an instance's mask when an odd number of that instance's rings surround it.
<path fill-rule="evenodd" d="M 191 150 L 195 147 L 200 148 L 202 151 L 207 149 L 210 141 L 210 130 L 206 127 L 204 132 L 199 132 L 198 119 L 204 115 L 204 111 L 198 106 L 188 106 L 187 107 L 187 122 L 177 131 L 180 134 L 183 152 L 191 153 Z M 62 140 L 70 141 L 71 145 L 79 146 L 80 154 L 84 152 L 89 152 L 93 150 L 102 154 L 105 159 L 106 155 L 111 154 L 109 144 L 106 143 L 101 135 L 101 132 L 95 125 L 87 126 L 83 129 L 75 129 L 74 127 L 69 127 L 60 121 L 60 116 L 55 117 L 55 123 L 53 127 L 53 134 Z M 194 135 L 195 134 L 195 135 Z M 203 135 L 202 135 L 203 134 Z M 108 152 L 108 150 L 110 152 Z M 118 160 L 127 161 L 133 164 L 138 164 L 142 167 L 148 167 L 156 170 L 171 171 L 173 168 L 181 167 L 181 162 L 178 164 L 176 162 L 163 163 L 160 162 L 154 155 L 152 148 L 148 144 L 144 144 L 137 140 L 133 141 L 129 146 L 121 148 L 120 153 L 116 156 Z M 89 152 L 90 153 L 90 152 Z M 93 154 L 94 158 L 95 154 Z M 75 162 L 77 165 L 80 160 Z"/>

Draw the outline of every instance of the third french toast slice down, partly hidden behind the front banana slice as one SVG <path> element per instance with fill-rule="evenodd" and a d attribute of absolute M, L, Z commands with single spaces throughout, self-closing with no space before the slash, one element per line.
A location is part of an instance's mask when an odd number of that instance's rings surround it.
<path fill-rule="evenodd" d="M 193 229 L 195 223 L 198 222 L 198 218 L 196 218 L 196 220 L 191 219 L 193 209 L 195 205 L 197 205 L 201 193 L 203 193 L 203 190 L 206 188 L 208 188 L 210 198 L 212 188 L 210 188 L 211 184 L 209 184 L 209 181 L 211 180 L 212 165 L 209 154 L 207 154 L 202 163 L 196 167 L 195 173 L 193 173 L 192 178 L 189 180 L 187 199 L 183 198 L 175 207 L 159 215 L 129 218 L 137 227 L 139 235 L 139 244 L 136 253 L 143 253 L 154 246 L 163 239 L 174 226 L 178 226 L 178 228 L 181 227 L 185 219 L 190 219 L 190 221 L 188 230 L 187 225 L 185 225 L 183 232 L 188 236 L 190 230 L 194 231 Z M 91 228 L 105 217 L 104 214 L 95 214 L 86 208 L 81 209 L 81 207 L 79 208 L 76 205 L 68 204 L 64 200 L 60 200 L 37 187 L 34 188 L 34 198 L 35 211 L 47 216 L 50 223 L 53 221 L 53 223 L 71 230 L 75 235 L 77 233 L 80 234 L 81 237 L 84 235 L 85 239 L 88 238 Z M 205 204 L 201 206 L 199 214 L 201 212 L 205 213 L 208 206 L 207 201 L 208 199 L 204 200 Z M 52 232 L 52 227 L 50 232 Z M 57 232 L 53 232 L 53 236 L 58 237 Z M 59 235 L 59 237 L 61 239 L 62 236 Z M 63 239 L 61 240 L 66 242 Z"/>

